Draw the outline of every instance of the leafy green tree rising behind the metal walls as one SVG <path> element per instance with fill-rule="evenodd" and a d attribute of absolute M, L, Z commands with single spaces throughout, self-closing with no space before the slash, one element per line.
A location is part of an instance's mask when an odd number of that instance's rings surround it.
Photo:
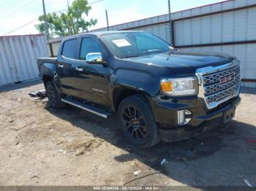
<path fill-rule="evenodd" d="M 50 36 L 65 36 L 78 34 L 87 31 L 89 26 L 94 26 L 97 19 L 85 20 L 88 17 L 91 7 L 87 0 L 74 0 L 72 5 L 67 9 L 67 12 L 48 13 L 47 21 Z M 40 23 L 36 28 L 41 33 L 45 33 L 45 17 L 39 16 Z"/>

